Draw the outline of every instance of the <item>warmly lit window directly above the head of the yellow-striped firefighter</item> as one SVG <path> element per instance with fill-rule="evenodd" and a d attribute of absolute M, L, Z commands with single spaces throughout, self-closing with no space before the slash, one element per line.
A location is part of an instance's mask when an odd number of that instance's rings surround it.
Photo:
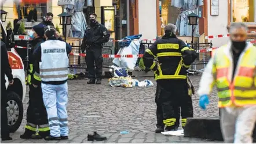
<path fill-rule="evenodd" d="M 159 0 L 161 35 L 164 35 L 163 28 L 167 24 L 176 24 L 180 9 L 171 6 L 171 0 Z"/>

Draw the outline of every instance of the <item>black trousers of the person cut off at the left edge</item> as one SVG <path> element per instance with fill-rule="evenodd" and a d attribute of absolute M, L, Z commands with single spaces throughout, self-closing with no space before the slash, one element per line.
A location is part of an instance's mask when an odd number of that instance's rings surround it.
<path fill-rule="evenodd" d="M 2 79 L 1 79 L 2 80 Z M 7 90 L 5 88 L 5 83 L 1 82 L 1 136 L 3 138 L 9 137 L 8 129 L 8 118 L 7 118 Z"/>

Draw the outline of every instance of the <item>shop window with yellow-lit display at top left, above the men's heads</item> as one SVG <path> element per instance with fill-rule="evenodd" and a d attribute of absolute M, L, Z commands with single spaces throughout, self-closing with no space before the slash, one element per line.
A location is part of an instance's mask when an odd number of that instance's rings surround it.
<path fill-rule="evenodd" d="M 43 17 L 46 16 L 47 7 L 46 3 L 19 3 L 19 5 L 14 4 L 14 19 L 25 20 L 26 22 L 42 21 Z"/>

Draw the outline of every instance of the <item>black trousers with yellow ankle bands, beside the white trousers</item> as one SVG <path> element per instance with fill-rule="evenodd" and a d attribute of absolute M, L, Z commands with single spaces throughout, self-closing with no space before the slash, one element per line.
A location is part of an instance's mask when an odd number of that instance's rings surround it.
<path fill-rule="evenodd" d="M 35 129 L 38 126 L 38 133 L 46 137 L 50 134 L 50 129 L 48 126 L 47 111 L 43 104 L 41 85 L 39 85 L 38 88 L 34 88 L 33 85 L 30 85 L 29 98 L 26 132 L 35 134 Z"/>

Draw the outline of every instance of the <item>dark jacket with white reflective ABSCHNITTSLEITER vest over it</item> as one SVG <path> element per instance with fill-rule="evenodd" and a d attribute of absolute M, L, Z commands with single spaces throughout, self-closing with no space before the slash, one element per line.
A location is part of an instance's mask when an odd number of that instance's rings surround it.
<path fill-rule="evenodd" d="M 42 83 L 61 85 L 67 82 L 68 54 L 72 48 L 62 39 L 47 39 L 36 48 L 34 58 L 39 62 L 36 67 Z"/>

